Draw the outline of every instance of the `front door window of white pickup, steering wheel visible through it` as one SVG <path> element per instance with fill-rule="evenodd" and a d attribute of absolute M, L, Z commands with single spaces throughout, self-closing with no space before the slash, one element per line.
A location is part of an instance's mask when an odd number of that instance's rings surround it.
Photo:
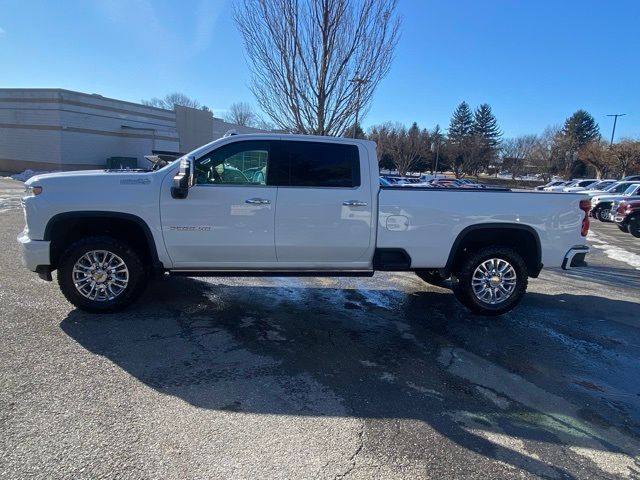
<path fill-rule="evenodd" d="M 196 185 L 266 185 L 270 143 L 233 142 L 195 162 Z"/>

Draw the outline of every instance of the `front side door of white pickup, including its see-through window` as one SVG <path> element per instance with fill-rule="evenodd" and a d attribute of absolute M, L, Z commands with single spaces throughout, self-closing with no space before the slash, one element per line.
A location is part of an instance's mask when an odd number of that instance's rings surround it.
<path fill-rule="evenodd" d="M 276 262 L 277 188 L 267 185 L 271 141 L 236 141 L 197 158 L 187 198 L 161 195 L 165 245 L 177 268 L 250 268 Z"/>

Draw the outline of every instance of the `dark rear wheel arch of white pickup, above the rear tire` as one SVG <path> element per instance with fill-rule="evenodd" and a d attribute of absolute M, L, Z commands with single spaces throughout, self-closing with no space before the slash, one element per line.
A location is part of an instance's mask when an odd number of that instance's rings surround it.
<path fill-rule="evenodd" d="M 464 228 L 456 237 L 444 267 L 445 277 L 451 275 L 473 251 L 486 246 L 513 248 L 523 258 L 530 277 L 542 270 L 540 236 L 529 225 L 517 223 L 482 223 Z"/>

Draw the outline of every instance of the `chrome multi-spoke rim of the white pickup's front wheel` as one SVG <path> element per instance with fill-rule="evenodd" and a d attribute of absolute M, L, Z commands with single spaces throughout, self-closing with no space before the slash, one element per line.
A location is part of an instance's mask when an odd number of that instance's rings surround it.
<path fill-rule="evenodd" d="M 106 302 L 122 295 L 129 284 L 124 260 L 107 250 L 91 250 L 73 266 L 73 284 L 85 298 Z"/>

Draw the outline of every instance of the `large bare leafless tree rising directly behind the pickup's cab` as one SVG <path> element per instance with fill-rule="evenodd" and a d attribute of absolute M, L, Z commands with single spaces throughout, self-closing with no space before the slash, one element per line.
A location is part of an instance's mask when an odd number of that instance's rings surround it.
<path fill-rule="evenodd" d="M 342 135 L 364 113 L 398 41 L 397 0 L 243 0 L 235 20 L 251 90 L 278 128 Z"/>

